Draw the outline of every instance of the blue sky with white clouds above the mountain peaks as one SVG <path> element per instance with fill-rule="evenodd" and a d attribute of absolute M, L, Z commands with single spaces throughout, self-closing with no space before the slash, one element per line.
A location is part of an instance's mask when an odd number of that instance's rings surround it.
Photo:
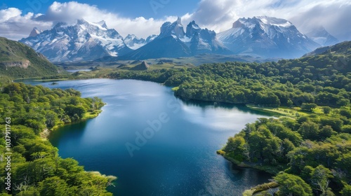
<path fill-rule="evenodd" d="M 50 1 L 2 0 L 0 36 L 19 40 L 34 27 L 51 29 L 57 22 L 74 25 L 78 19 L 105 20 L 121 36 L 146 38 L 159 34 L 164 22 L 182 18 L 183 26 L 194 20 L 202 28 L 225 31 L 239 18 L 267 15 L 284 18 L 302 33 L 324 27 L 339 41 L 351 40 L 349 0 L 130 0 Z"/>

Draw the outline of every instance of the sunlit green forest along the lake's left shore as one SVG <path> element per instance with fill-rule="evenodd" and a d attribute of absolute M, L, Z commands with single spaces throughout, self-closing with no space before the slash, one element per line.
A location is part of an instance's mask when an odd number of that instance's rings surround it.
<path fill-rule="evenodd" d="M 76 160 L 60 158 L 58 148 L 41 135 L 43 130 L 97 116 L 104 105 L 101 99 L 81 98 L 73 89 L 24 83 L 0 88 L 1 168 L 7 168 L 6 153 L 12 153 L 11 168 L 1 169 L 0 195 L 8 195 L 8 176 L 12 195 L 112 195 L 106 188 L 116 177 L 86 172 Z"/>

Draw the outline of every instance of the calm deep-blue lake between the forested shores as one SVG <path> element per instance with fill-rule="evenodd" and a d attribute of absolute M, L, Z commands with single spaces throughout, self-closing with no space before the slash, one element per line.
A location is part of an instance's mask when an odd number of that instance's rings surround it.
<path fill-rule="evenodd" d="M 264 117 L 262 113 L 183 102 L 170 87 L 138 80 L 32 84 L 73 87 L 82 97 L 107 103 L 100 116 L 62 127 L 50 141 L 62 158 L 74 158 L 88 171 L 118 176 L 109 188 L 114 195 L 241 195 L 271 177 L 234 167 L 216 155 L 228 137 Z"/>

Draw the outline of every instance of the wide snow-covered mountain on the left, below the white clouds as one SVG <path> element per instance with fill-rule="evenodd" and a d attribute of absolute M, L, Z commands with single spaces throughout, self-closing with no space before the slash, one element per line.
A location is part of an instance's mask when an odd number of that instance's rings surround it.
<path fill-rule="evenodd" d="M 123 37 L 115 29 L 108 29 L 105 21 L 77 20 L 72 26 L 59 22 L 53 29 L 22 38 L 20 42 L 41 52 L 51 62 L 93 60 L 131 52 Z"/>

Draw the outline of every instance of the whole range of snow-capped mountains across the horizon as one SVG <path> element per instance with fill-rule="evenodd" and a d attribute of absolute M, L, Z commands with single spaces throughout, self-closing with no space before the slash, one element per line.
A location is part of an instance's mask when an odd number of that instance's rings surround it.
<path fill-rule="evenodd" d="M 338 42 L 324 28 L 300 33 L 288 20 L 267 16 L 239 18 L 232 28 L 216 34 L 195 21 L 185 28 L 178 18 L 165 22 L 160 34 L 123 38 L 107 28 L 105 21 L 78 20 L 76 25 L 59 22 L 53 29 L 34 28 L 20 42 L 41 52 L 51 62 L 77 62 L 94 59 L 152 59 L 159 57 L 192 57 L 199 54 L 251 55 L 263 58 L 295 58 L 323 45 Z"/>

